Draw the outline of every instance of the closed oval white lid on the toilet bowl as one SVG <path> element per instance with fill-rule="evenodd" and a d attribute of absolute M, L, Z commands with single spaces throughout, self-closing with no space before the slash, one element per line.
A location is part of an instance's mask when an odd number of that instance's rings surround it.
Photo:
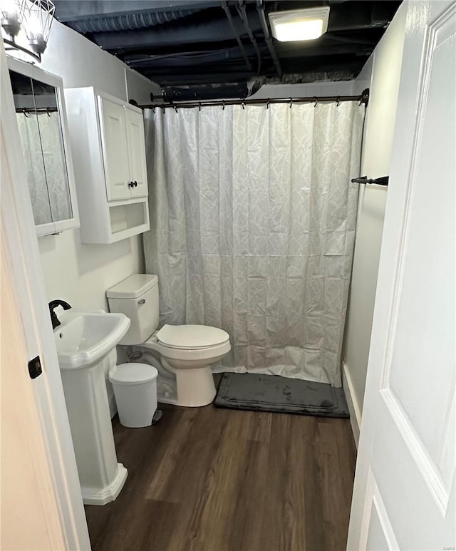
<path fill-rule="evenodd" d="M 207 348 L 229 340 L 223 329 L 207 325 L 164 325 L 157 333 L 157 339 L 172 348 Z"/>

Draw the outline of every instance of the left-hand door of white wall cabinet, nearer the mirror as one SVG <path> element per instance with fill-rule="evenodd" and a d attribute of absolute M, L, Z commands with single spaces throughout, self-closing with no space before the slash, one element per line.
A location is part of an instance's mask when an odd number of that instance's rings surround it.
<path fill-rule="evenodd" d="M 108 201 L 130 199 L 125 109 L 123 105 L 100 96 L 98 96 L 98 105 Z M 98 185 L 99 182 L 93 183 Z"/>

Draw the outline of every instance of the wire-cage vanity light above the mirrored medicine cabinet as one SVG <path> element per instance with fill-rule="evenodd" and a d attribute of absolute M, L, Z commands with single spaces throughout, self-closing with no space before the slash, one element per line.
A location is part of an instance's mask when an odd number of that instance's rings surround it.
<path fill-rule="evenodd" d="M 41 61 L 46 50 L 53 14 L 56 11 L 51 0 L 0 0 L 1 28 L 9 38 L 4 42 L 8 50 L 20 50 Z M 16 37 L 24 30 L 31 49 L 22 46 Z"/>

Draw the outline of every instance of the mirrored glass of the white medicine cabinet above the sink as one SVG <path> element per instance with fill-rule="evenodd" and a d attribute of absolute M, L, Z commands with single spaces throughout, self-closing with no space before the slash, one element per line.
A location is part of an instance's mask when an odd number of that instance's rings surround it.
<path fill-rule="evenodd" d="M 74 220 L 58 88 L 9 71 L 35 225 Z M 69 227 L 66 225 L 66 227 Z M 72 227 L 75 227 L 73 224 Z M 62 227 L 62 229 L 65 229 Z"/>

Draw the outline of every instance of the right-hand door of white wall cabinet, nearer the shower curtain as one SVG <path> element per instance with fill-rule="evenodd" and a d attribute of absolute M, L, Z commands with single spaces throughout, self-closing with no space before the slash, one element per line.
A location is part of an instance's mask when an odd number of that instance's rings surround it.
<path fill-rule="evenodd" d="M 128 138 L 128 164 L 130 180 L 135 182 L 132 197 L 147 196 L 147 168 L 145 164 L 144 121 L 142 113 L 125 107 Z M 138 185 L 136 185 L 138 184 Z"/>

